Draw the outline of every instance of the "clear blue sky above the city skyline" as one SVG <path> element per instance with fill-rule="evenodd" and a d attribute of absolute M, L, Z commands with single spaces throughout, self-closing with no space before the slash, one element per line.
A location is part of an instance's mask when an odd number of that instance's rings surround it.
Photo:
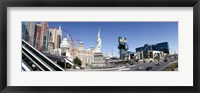
<path fill-rule="evenodd" d="M 84 43 L 85 49 L 96 46 L 101 28 L 101 51 L 111 54 L 113 49 L 114 56 L 118 56 L 118 36 L 127 38 L 132 52 L 144 44 L 160 42 L 168 42 L 170 50 L 178 52 L 178 22 L 48 22 L 48 26 L 68 30 L 73 39 Z"/>

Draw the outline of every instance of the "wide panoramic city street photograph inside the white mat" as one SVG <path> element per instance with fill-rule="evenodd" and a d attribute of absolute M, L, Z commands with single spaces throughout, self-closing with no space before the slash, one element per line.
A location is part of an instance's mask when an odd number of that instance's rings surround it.
<path fill-rule="evenodd" d="M 178 71 L 178 22 L 23 21 L 23 71 Z"/>

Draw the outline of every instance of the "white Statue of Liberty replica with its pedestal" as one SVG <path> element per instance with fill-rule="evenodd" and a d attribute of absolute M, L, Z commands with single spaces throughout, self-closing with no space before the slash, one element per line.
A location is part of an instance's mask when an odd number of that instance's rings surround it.
<path fill-rule="evenodd" d="M 103 59 L 103 53 L 101 52 L 102 41 L 101 41 L 101 37 L 100 37 L 100 32 L 101 32 L 101 29 L 99 28 L 99 32 L 97 35 L 97 46 L 96 46 L 95 52 L 94 52 L 94 64 L 98 65 L 98 66 L 104 66 L 105 61 Z"/>

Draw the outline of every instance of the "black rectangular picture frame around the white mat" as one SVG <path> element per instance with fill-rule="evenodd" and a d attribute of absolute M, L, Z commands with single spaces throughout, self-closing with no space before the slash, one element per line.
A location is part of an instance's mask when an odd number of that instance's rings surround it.
<path fill-rule="evenodd" d="M 199 93 L 200 0 L 2 0 L 0 1 L 0 91 L 2 93 Z M 194 86 L 7 86 L 7 7 L 193 7 Z"/>

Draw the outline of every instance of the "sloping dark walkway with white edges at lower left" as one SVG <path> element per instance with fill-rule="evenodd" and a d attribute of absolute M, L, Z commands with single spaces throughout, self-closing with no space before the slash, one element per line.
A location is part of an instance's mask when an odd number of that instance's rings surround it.
<path fill-rule="evenodd" d="M 64 58 L 64 62 L 74 65 L 73 62 Z M 76 66 L 77 69 L 80 69 Z M 44 53 L 38 51 L 22 39 L 22 71 L 65 71 L 56 62 L 52 61 Z"/>

